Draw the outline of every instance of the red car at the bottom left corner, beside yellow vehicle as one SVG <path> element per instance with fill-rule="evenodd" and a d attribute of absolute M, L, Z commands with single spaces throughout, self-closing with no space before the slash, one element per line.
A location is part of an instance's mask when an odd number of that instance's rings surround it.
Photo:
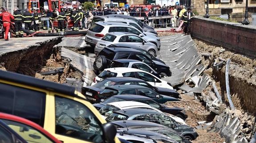
<path fill-rule="evenodd" d="M 0 112 L 0 121 L 7 124 L 27 142 L 62 143 L 38 124 L 24 118 Z"/>

